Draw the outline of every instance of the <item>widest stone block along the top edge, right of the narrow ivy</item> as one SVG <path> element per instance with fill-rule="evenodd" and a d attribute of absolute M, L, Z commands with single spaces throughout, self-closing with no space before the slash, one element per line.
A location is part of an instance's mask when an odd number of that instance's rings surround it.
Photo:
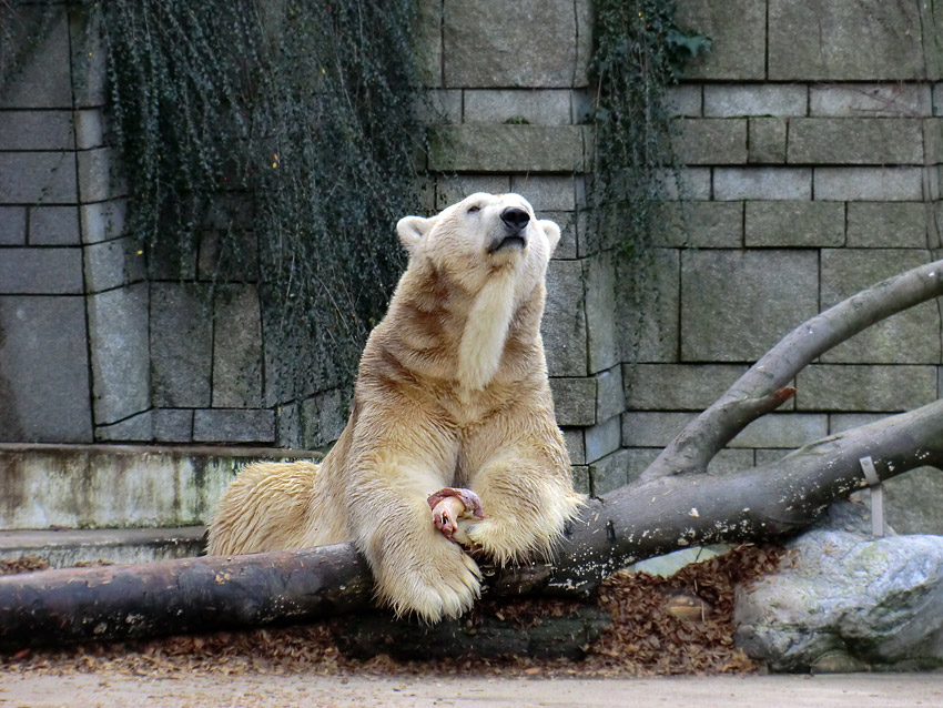
<path fill-rule="evenodd" d="M 770 0 L 769 79 L 893 81 L 925 75 L 916 4 Z"/>

